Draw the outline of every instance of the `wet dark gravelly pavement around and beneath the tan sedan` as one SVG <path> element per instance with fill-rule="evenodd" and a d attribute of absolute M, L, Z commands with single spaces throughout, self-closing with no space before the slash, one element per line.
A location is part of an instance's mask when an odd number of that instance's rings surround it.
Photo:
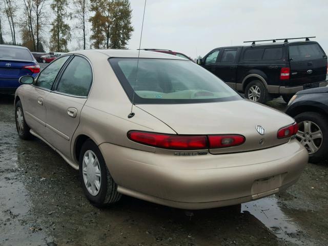
<path fill-rule="evenodd" d="M 13 96 L 0 95 L 0 245 L 328 245 L 327 231 L 327 162 L 240 206 L 185 211 L 123 197 L 97 209 L 58 154 L 18 138 Z"/>

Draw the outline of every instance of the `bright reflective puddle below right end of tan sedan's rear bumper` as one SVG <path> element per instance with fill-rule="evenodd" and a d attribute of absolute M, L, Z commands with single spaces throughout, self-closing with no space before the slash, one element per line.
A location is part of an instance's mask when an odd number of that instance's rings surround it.
<path fill-rule="evenodd" d="M 297 238 L 302 233 L 301 229 L 281 210 L 280 206 L 279 200 L 271 196 L 241 204 L 241 212 L 255 216 L 278 238 L 304 245 L 304 242 Z"/>

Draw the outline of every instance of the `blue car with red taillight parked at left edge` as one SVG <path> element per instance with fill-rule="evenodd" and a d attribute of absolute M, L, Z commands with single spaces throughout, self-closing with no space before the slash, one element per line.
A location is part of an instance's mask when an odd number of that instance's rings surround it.
<path fill-rule="evenodd" d="M 0 45 L 0 93 L 15 93 L 21 76 L 35 77 L 39 72 L 40 66 L 28 48 Z"/>

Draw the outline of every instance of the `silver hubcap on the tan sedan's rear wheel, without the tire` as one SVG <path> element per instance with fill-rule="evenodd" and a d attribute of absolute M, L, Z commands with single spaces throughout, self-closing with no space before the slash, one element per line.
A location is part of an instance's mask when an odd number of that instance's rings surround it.
<path fill-rule="evenodd" d="M 83 180 L 90 195 L 96 196 L 100 191 L 101 171 L 97 156 L 87 150 L 83 156 Z"/>

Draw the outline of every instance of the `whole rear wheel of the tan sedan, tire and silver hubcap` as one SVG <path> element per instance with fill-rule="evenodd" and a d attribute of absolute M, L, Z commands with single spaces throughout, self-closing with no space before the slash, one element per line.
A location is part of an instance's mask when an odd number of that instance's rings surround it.
<path fill-rule="evenodd" d="M 105 207 L 121 198 L 103 155 L 91 139 L 81 148 L 79 176 L 84 193 L 94 206 Z"/>

